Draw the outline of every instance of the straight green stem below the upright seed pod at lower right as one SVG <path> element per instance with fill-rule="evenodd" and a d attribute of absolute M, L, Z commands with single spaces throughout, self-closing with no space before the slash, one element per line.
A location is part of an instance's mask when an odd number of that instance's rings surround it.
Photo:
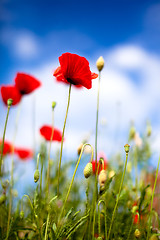
<path fill-rule="evenodd" d="M 108 232 L 108 239 L 110 237 L 110 233 L 111 233 L 111 229 L 112 229 L 112 225 L 113 225 L 113 221 L 114 221 L 114 215 L 115 212 L 117 210 L 117 206 L 118 206 L 118 202 L 119 202 L 119 198 L 120 198 L 120 194 L 121 194 L 121 190 L 122 190 L 122 186 L 123 186 L 123 181 L 124 181 L 124 176 L 125 176 L 125 172 L 126 172 L 126 166 L 127 166 L 127 160 L 128 160 L 128 153 L 126 153 L 126 161 L 125 161 L 125 166 L 124 166 L 124 170 L 123 170 L 123 175 L 122 175 L 122 179 L 121 179 L 121 183 L 120 183 L 120 187 L 119 187 L 119 192 L 118 192 L 118 196 L 116 199 L 116 204 L 112 213 L 112 219 L 111 219 L 111 224 L 109 227 L 109 232 Z"/>

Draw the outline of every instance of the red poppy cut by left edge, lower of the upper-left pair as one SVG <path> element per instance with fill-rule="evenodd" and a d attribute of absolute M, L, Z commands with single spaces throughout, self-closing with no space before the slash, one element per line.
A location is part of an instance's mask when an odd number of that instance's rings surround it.
<path fill-rule="evenodd" d="M 21 94 L 15 86 L 2 86 L 1 87 L 1 96 L 4 104 L 7 106 L 7 100 L 12 98 L 12 105 L 16 105 L 21 101 Z"/>

